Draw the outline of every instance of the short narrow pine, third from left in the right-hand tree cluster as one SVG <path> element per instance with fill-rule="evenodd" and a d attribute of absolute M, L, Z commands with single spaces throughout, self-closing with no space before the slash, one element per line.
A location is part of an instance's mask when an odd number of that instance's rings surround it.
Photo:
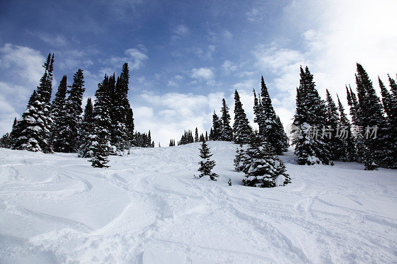
<path fill-rule="evenodd" d="M 338 110 L 339 110 L 339 114 L 340 114 L 339 121 L 340 121 L 340 125 L 341 125 L 339 135 L 340 135 L 342 141 L 344 141 L 345 144 L 347 145 L 346 156 L 342 155 L 340 157 L 340 159 L 342 161 L 354 161 L 355 155 L 356 155 L 356 146 L 355 146 L 354 138 L 351 135 L 351 124 L 350 124 L 349 120 L 347 119 L 347 116 L 344 112 L 342 103 L 340 103 L 339 96 L 336 95 L 336 97 L 338 99 Z M 343 131 L 343 133 L 342 133 L 342 131 Z"/>

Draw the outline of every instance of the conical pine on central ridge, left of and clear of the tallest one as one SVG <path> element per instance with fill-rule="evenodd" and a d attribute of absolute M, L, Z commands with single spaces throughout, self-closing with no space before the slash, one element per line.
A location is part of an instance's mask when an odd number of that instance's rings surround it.
<path fill-rule="evenodd" d="M 243 109 L 243 105 L 240 101 L 240 96 L 235 90 L 234 92 L 234 123 L 233 123 L 233 135 L 234 142 L 236 144 L 247 144 L 249 142 L 250 134 L 252 129 L 248 121 L 247 115 Z"/>

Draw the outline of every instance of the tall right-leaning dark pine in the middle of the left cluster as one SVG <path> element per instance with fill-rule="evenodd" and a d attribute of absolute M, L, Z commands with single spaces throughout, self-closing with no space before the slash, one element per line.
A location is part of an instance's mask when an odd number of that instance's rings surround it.
<path fill-rule="evenodd" d="M 78 69 L 73 75 L 73 84 L 70 86 L 69 96 L 66 99 L 65 107 L 58 118 L 59 128 L 54 138 L 55 151 L 74 153 L 78 151 L 79 124 L 83 111 L 81 104 L 83 100 L 84 88 L 83 70 Z"/>

